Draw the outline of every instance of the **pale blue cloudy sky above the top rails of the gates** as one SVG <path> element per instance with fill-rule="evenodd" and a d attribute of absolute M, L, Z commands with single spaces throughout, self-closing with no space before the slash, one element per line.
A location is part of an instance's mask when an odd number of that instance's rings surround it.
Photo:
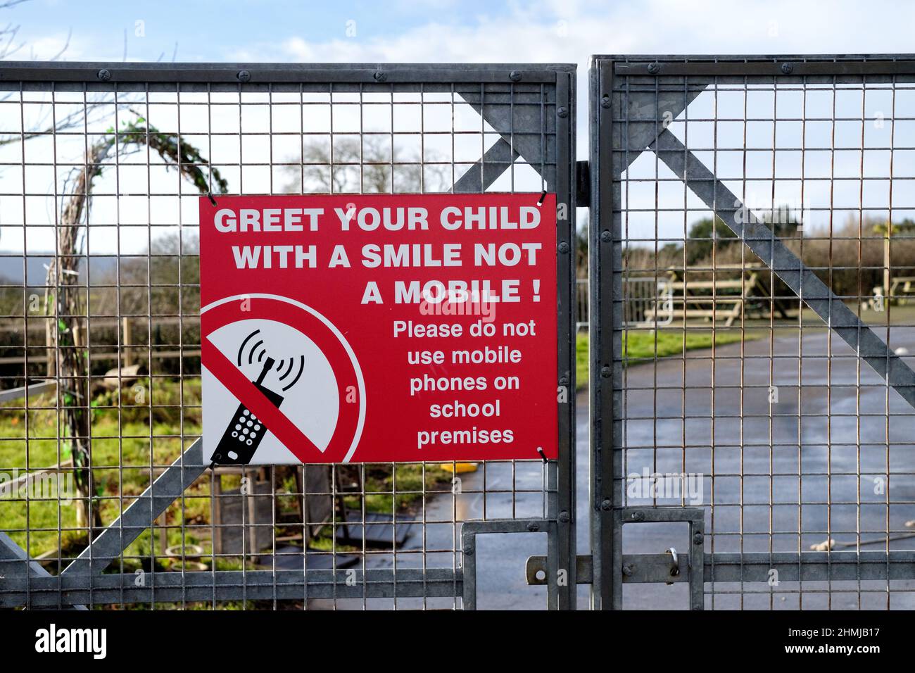
<path fill-rule="evenodd" d="M 586 158 L 591 54 L 905 53 L 915 3 L 27 0 L 0 9 L 6 24 L 8 60 L 575 63 Z"/>

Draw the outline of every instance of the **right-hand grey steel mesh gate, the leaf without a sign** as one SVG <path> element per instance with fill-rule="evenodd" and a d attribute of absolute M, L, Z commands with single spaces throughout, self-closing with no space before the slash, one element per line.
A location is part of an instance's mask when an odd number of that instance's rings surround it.
<path fill-rule="evenodd" d="M 915 64 L 598 57 L 591 85 L 595 603 L 910 609 Z M 667 320 L 628 320 L 644 277 Z"/>

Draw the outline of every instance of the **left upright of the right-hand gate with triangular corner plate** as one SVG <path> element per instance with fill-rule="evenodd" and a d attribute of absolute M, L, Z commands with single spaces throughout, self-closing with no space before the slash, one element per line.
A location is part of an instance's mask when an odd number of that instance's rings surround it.
<path fill-rule="evenodd" d="M 590 293 L 590 505 L 593 582 L 591 607 L 622 608 L 622 549 L 619 510 L 622 497 L 621 409 L 623 379 L 622 201 L 619 177 L 650 147 L 666 125 L 665 113 L 677 114 L 698 92 L 655 91 L 632 100 L 614 93 L 616 60 L 595 57 L 590 70 L 590 226 L 588 283 Z M 630 123 L 630 106 L 635 119 Z M 626 121 L 617 121 L 625 116 Z M 701 580 L 699 581 L 701 585 Z"/>

